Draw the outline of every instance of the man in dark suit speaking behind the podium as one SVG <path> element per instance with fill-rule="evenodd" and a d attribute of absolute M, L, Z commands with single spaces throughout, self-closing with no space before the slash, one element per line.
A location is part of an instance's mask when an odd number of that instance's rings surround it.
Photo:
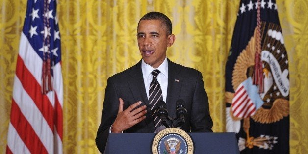
<path fill-rule="evenodd" d="M 100 152 L 109 133 L 155 132 L 161 126 L 156 115 L 158 100 L 166 102 L 172 119 L 177 100 L 184 100 L 187 115 L 180 128 L 186 132 L 213 132 L 201 72 L 166 57 L 167 47 L 175 41 L 170 19 L 159 12 L 147 13 L 138 23 L 137 40 L 142 60 L 107 80 L 96 137 Z"/>

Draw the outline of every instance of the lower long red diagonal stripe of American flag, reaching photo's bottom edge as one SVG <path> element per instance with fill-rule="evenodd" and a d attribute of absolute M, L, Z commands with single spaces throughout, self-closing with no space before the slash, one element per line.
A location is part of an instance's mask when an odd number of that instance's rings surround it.
<path fill-rule="evenodd" d="M 36 135 L 31 124 L 28 123 L 19 106 L 15 103 L 14 99 L 12 100 L 12 110 L 14 111 L 14 117 L 11 118 L 11 123 L 17 130 L 19 136 L 21 136 L 21 139 L 30 153 L 47 154 L 47 150 L 40 141 L 39 137 Z"/>

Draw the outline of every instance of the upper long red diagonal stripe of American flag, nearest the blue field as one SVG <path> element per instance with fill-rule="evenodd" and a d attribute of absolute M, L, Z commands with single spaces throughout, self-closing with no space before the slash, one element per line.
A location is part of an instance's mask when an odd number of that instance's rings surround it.
<path fill-rule="evenodd" d="M 20 56 L 17 57 L 16 76 L 20 79 L 25 91 L 43 114 L 51 131 L 53 131 L 53 107 L 46 95 L 37 94 L 37 92 L 41 92 L 41 86 L 28 71 Z"/>

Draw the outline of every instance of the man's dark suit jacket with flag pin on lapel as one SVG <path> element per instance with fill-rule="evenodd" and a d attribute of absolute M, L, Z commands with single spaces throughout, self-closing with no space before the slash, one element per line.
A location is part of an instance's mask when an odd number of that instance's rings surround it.
<path fill-rule="evenodd" d="M 107 80 L 102 121 L 95 139 L 101 153 L 104 151 L 110 126 L 118 113 L 119 98 L 124 101 L 124 110 L 138 101 L 142 101 L 141 105 L 149 106 L 142 76 L 141 61 Z M 176 117 L 176 102 L 178 99 L 185 101 L 185 108 L 187 109 L 185 124 L 181 126 L 181 129 L 186 132 L 213 132 L 211 129 L 213 122 L 209 114 L 208 98 L 201 72 L 181 66 L 168 59 L 166 103 L 168 114 L 171 118 Z M 145 120 L 128 128 L 123 133 L 153 133 L 156 128 L 150 114 L 150 107 L 147 107 L 147 110 Z"/>

